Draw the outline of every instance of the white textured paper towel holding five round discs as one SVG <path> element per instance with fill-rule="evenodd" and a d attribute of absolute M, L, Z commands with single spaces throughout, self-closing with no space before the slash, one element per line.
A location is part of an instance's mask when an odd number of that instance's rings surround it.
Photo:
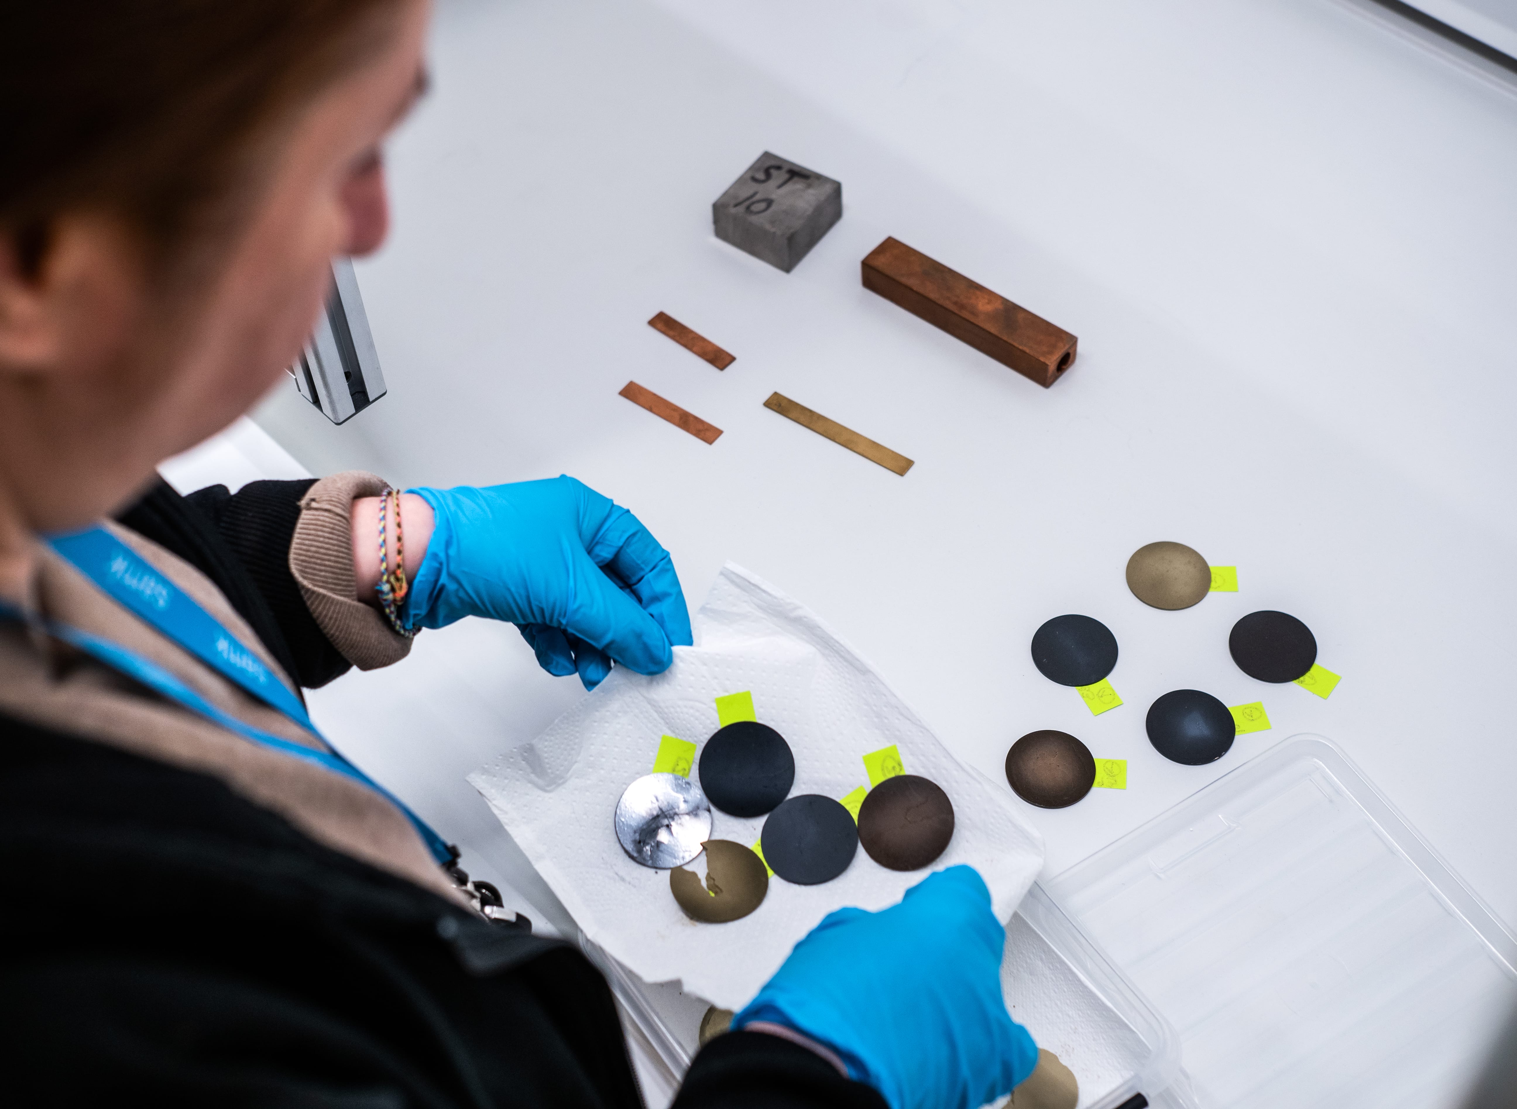
<path fill-rule="evenodd" d="M 531 743 L 469 775 L 586 935 L 645 982 L 680 979 L 727 1009 L 745 1004 L 790 948 L 842 906 L 883 909 L 924 871 L 901 874 L 860 848 L 834 881 L 771 878 L 749 916 L 696 924 L 669 894 L 669 872 L 628 859 L 611 828 L 622 790 L 652 771 L 661 736 L 702 745 L 718 728 L 718 696 L 751 690 L 760 722 L 795 752 L 790 795 L 842 798 L 868 786 L 863 756 L 892 743 L 907 774 L 953 800 L 954 836 L 933 869 L 969 863 L 1010 918 L 1042 866 L 1042 837 L 1006 790 L 962 765 L 878 674 L 810 610 L 728 564 L 696 613 L 696 646 L 675 648 L 664 674 L 617 668 Z M 698 769 L 692 777 L 699 780 Z M 763 818 L 713 812 L 711 834 L 754 844 Z"/>

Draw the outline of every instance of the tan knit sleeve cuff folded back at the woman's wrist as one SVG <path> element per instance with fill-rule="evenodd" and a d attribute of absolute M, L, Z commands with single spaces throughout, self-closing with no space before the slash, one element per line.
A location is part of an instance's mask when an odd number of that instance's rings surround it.
<path fill-rule="evenodd" d="M 411 640 L 397 636 L 378 610 L 356 599 L 353 501 L 379 496 L 385 489 L 384 481 L 363 470 L 322 478 L 300 499 L 300 520 L 290 540 L 290 573 L 300 586 L 305 607 L 332 646 L 361 671 L 397 663 L 411 652 Z"/>

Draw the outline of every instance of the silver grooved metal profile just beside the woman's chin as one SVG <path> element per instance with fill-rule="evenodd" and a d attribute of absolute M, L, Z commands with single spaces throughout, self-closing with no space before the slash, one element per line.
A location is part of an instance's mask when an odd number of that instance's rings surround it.
<path fill-rule="evenodd" d="M 332 291 L 316 334 L 290 367 L 300 396 L 332 423 L 346 423 L 385 394 L 379 352 L 369 331 L 358 278 L 347 258 L 332 261 Z"/>

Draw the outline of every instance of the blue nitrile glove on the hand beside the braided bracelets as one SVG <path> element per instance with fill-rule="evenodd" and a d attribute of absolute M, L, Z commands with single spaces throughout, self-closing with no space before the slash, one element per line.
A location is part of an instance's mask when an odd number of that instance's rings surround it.
<path fill-rule="evenodd" d="M 510 620 L 549 674 L 586 689 L 611 660 L 661 674 L 690 645 L 669 552 L 625 508 L 569 476 L 411 489 L 437 523 L 407 596 L 413 628 L 464 616 Z"/>

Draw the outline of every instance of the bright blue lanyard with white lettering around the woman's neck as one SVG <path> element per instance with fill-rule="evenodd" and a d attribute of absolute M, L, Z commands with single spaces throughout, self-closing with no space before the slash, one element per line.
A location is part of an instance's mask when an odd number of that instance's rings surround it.
<path fill-rule="evenodd" d="M 61 536 L 50 540 L 50 545 L 102 590 L 158 628 L 158 631 L 185 651 L 264 704 L 279 710 L 313 736 L 322 737 L 322 733 L 311 724 L 311 716 L 306 713 L 305 705 L 300 704 L 300 699 L 264 666 L 258 655 L 243 646 L 232 633 L 221 627 L 220 620 L 105 528 L 91 528 L 90 531 Z M 11 616 L 12 619 L 20 617 L 15 610 L 5 605 L 0 605 L 0 614 Z M 58 639 L 73 643 L 80 651 L 99 658 L 106 666 L 126 674 L 153 692 L 177 701 L 185 708 L 199 713 L 229 731 L 235 731 L 244 739 L 361 781 L 388 798 L 405 813 L 438 863 L 448 865 L 457 859 L 457 853 L 448 847 L 441 836 L 432 831 L 428 824 L 407 809 L 390 790 L 347 762 L 335 748 L 317 751 L 244 724 L 217 708 L 158 663 L 143 658 L 108 639 L 53 622 L 47 624 L 47 630 Z"/>

